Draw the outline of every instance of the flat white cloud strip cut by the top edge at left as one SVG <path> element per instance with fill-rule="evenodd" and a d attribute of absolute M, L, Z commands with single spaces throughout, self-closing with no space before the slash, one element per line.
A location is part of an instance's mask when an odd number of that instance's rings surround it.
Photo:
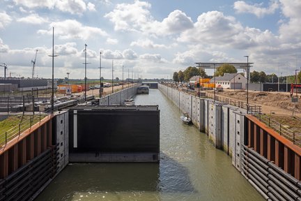
<path fill-rule="evenodd" d="M 54 8 L 59 9 L 65 13 L 82 15 L 86 10 L 94 11 L 95 5 L 91 2 L 87 4 L 84 0 L 13 0 L 16 5 L 22 5 L 26 8 Z"/>

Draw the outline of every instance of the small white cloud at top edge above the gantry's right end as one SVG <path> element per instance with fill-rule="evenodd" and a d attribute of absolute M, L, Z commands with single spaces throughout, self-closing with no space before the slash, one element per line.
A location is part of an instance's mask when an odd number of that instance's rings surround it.
<path fill-rule="evenodd" d="M 252 13 L 257 17 L 263 17 L 264 15 L 270 15 L 275 13 L 275 10 L 279 8 L 279 2 L 275 0 L 270 0 L 270 5 L 268 8 L 261 8 L 263 3 L 254 3 L 254 5 L 249 5 L 245 1 L 236 1 L 234 3 L 234 9 L 238 13 Z"/>

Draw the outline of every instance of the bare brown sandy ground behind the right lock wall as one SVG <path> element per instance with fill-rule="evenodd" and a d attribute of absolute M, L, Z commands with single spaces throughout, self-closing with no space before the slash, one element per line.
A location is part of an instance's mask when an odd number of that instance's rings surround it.
<path fill-rule="evenodd" d="M 209 93 L 213 94 L 213 91 Z M 295 116 L 301 117 L 300 95 L 298 95 L 298 103 L 292 103 L 288 92 L 249 91 L 249 104 L 260 105 L 265 114 L 293 116 L 293 111 L 295 111 Z M 224 96 L 247 103 L 247 91 L 225 89 L 218 92 L 216 96 Z M 295 97 L 295 94 L 293 97 Z"/>

